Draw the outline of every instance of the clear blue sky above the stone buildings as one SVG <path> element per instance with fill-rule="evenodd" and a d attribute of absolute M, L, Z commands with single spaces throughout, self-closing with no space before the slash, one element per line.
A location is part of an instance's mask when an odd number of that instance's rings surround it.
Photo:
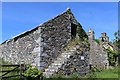
<path fill-rule="evenodd" d="M 68 7 L 86 32 L 92 28 L 96 38 L 106 32 L 110 40 L 114 39 L 118 29 L 117 2 L 4 2 L 0 43 L 50 20 Z"/>

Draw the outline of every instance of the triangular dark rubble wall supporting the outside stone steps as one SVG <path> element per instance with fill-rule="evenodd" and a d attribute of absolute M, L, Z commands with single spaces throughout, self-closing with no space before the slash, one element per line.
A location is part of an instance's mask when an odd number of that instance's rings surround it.
<path fill-rule="evenodd" d="M 89 70 L 89 46 L 81 44 L 73 55 L 59 68 L 58 73 L 64 75 L 73 73 L 85 75 Z"/>

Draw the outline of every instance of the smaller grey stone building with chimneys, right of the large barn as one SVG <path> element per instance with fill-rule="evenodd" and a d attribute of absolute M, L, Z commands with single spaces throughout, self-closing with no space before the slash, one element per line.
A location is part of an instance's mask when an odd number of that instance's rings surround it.
<path fill-rule="evenodd" d="M 109 61 L 107 52 L 102 45 L 104 42 L 109 42 L 106 33 L 102 33 L 99 39 L 100 44 L 95 41 L 94 31 L 92 29 L 89 29 L 88 37 L 90 43 L 89 64 L 99 69 L 108 68 Z"/>

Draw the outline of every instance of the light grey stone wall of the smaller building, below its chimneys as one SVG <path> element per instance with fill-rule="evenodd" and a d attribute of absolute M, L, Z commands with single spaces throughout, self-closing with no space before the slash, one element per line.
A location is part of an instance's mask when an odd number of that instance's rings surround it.
<path fill-rule="evenodd" d="M 99 69 L 109 66 L 107 52 L 94 40 L 90 41 L 90 64 Z"/>

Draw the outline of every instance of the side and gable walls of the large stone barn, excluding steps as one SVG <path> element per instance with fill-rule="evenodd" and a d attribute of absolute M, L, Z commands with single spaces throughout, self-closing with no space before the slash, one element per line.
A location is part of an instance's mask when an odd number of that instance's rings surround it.
<path fill-rule="evenodd" d="M 68 9 L 42 25 L 3 42 L 0 58 L 12 63 L 24 61 L 45 69 L 71 40 L 71 24 L 78 26 Z"/>

